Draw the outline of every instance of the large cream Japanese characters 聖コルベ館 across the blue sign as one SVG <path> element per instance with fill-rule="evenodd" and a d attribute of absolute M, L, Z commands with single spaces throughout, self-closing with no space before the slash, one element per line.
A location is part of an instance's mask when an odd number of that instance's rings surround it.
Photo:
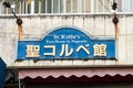
<path fill-rule="evenodd" d="M 61 51 L 59 56 L 70 56 L 72 55 L 73 51 L 75 51 L 76 53 L 81 50 L 83 50 L 88 55 L 90 54 L 90 51 L 86 48 L 89 47 L 89 44 L 83 46 L 80 45 L 76 50 L 73 48 L 69 48 L 68 44 L 62 44 L 61 46 Z M 55 56 L 55 45 L 45 45 L 44 48 L 49 48 L 52 52 L 51 53 L 43 53 L 43 55 L 51 55 L 51 56 Z M 105 44 L 95 44 L 93 45 L 94 48 L 94 56 L 106 56 L 106 45 Z M 39 57 L 39 52 L 40 52 L 40 46 L 39 45 L 27 45 L 27 57 Z"/>

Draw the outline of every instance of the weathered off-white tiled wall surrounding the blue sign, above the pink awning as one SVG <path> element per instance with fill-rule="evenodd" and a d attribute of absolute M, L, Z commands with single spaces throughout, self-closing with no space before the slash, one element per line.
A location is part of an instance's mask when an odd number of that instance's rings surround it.
<path fill-rule="evenodd" d="M 57 26 L 76 26 L 93 37 L 114 37 L 112 14 L 20 15 L 23 20 L 23 40 L 40 40 Z M 121 35 L 116 42 L 117 61 L 21 61 L 17 57 L 17 24 L 11 15 L 0 15 L 0 56 L 8 67 L 35 66 L 110 66 L 133 65 L 133 15 L 120 14 Z"/>

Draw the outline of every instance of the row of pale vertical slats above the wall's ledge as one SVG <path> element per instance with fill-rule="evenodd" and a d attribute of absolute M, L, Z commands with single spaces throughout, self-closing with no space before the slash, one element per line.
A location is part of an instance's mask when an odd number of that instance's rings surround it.
<path fill-rule="evenodd" d="M 10 14 L 0 1 L 0 13 Z M 110 13 L 113 0 L 8 0 L 16 4 L 18 14 L 40 14 L 40 13 Z M 117 12 L 133 11 L 132 0 L 116 0 Z"/>

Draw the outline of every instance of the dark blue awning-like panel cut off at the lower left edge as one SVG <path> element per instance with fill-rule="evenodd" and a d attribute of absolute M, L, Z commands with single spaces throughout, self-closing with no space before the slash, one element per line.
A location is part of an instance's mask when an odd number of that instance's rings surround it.
<path fill-rule="evenodd" d="M 6 63 L 0 57 L 0 88 L 3 88 L 4 77 L 6 77 Z"/>

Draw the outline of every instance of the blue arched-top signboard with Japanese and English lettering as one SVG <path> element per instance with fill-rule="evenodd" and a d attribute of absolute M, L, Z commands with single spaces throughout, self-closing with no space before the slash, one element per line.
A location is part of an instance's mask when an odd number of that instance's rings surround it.
<path fill-rule="evenodd" d="M 41 41 L 20 41 L 18 59 L 115 58 L 114 40 L 92 40 L 74 28 L 57 29 Z"/>

